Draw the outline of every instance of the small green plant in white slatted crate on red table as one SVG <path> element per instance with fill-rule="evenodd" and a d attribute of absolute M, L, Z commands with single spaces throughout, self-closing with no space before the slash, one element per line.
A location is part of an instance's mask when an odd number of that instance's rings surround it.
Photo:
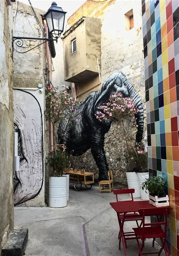
<path fill-rule="evenodd" d="M 156 207 L 169 205 L 165 188 L 166 180 L 159 175 L 151 176 L 142 183 L 142 189 L 147 189 L 149 192 L 149 202 Z"/>

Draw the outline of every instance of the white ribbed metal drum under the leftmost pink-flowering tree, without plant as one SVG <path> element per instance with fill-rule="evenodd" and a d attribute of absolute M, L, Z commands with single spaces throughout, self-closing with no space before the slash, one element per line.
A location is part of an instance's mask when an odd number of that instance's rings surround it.
<path fill-rule="evenodd" d="M 53 208 L 67 206 L 67 177 L 49 177 L 48 206 Z"/>

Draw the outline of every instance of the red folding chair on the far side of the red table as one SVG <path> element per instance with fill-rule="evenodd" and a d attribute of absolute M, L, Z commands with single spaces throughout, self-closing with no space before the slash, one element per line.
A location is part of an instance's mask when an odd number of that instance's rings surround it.
<path fill-rule="evenodd" d="M 118 202 L 118 195 L 122 195 L 122 194 L 131 194 L 131 199 L 132 200 L 128 200 L 128 201 L 134 201 L 133 199 L 133 193 L 135 192 L 134 188 L 129 188 L 129 189 L 114 189 L 113 193 L 116 195 L 116 201 Z M 133 221 L 135 220 L 137 223 L 137 227 L 141 227 L 142 225 L 142 217 L 139 216 L 138 213 L 124 213 L 124 214 L 120 214 L 117 213 L 117 217 L 118 217 L 118 221 L 119 221 L 119 235 L 118 235 L 118 239 L 119 239 L 119 250 L 120 250 L 120 244 L 121 244 L 121 234 L 120 232 L 123 233 L 123 238 L 125 240 L 125 246 L 127 248 L 127 244 L 126 244 L 126 240 L 131 240 L 131 239 L 136 239 L 136 237 L 129 237 L 129 236 L 134 236 L 134 232 L 124 232 L 123 231 L 123 225 L 125 221 Z M 140 225 L 138 223 L 138 220 L 141 221 Z"/>

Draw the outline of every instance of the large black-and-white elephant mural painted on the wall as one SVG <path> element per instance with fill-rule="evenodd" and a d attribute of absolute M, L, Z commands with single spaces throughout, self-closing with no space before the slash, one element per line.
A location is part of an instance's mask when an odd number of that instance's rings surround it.
<path fill-rule="evenodd" d="M 84 101 L 76 106 L 75 115 L 79 115 L 78 121 L 75 117 L 68 117 L 67 114 L 66 119 L 63 119 L 58 128 L 58 143 L 65 144 L 66 150 L 72 152 L 73 156 L 82 155 L 91 148 L 91 153 L 99 168 L 99 181 L 108 179 L 109 168 L 104 151 L 104 139 L 111 122 L 100 122 L 95 114 L 101 105 L 109 101 L 114 92 L 120 92 L 136 102 L 136 109 L 139 110 L 135 116 L 138 125 L 136 141 L 140 142 L 144 130 L 142 100 L 121 71 L 111 74 L 99 91 L 89 93 Z"/>

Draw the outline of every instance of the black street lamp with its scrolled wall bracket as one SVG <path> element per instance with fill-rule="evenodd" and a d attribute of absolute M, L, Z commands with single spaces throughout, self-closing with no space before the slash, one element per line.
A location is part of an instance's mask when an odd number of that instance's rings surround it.
<path fill-rule="evenodd" d="M 43 19 L 46 20 L 46 23 L 47 23 L 47 26 L 48 26 L 48 29 L 49 29 L 49 34 L 51 34 L 52 37 L 54 37 L 54 38 L 13 36 L 13 40 L 12 40 L 12 47 L 13 47 L 13 49 L 14 49 L 14 42 L 16 43 L 16 45 L 18 47 L 22 47 L 23 46 L 23 39 L 27 39 L 27 40 L 42 40 L 42 41 L 44 41 L 44 42 L 40 43 L 39 45 L 42 45 L 46 41 L 49 41 L 49 42 L 50 41 L 56 41 L 57 42 L 58 38 L 60 37 L 61 33 L 63 32 L 64 23 L 65 23 L 65 14 L 66 14 L 66 12 L 64 12 L 61 7 L 58 7 L 56 2 L 52 2 L 51 7 L 43 15 Z M 39 45 L 31 48 L 28 51 L 31 51 L 32 49 L 38 47 Z M 15 51 L 17 51 L 17 50 L 15 50 Z M 25 52 L 17 51 L 17 52 L 18 53 L 27 53 L 28 51 L 25 51 Z"/>

